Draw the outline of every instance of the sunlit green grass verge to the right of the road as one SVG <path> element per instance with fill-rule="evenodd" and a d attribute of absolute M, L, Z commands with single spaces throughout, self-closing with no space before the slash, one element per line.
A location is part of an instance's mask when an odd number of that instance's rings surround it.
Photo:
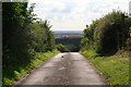
<path fill-rule="evenodd" d="M 98 57 L 93 50 L 81 52 L 103 73 L 111 85 L 129 85 L 129 59 Z"/>

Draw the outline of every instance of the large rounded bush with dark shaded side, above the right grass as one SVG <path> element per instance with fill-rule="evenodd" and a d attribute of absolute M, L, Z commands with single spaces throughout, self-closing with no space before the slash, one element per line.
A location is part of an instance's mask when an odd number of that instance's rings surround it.
<path fill-rule="evenodd" d="M 82 50 L 93 49 L 100 55 L 114 54 L 126 47 L 130 26 L 130 17 L 121 11 L 112 11 L 86 26 L 81 40 Z"/>

